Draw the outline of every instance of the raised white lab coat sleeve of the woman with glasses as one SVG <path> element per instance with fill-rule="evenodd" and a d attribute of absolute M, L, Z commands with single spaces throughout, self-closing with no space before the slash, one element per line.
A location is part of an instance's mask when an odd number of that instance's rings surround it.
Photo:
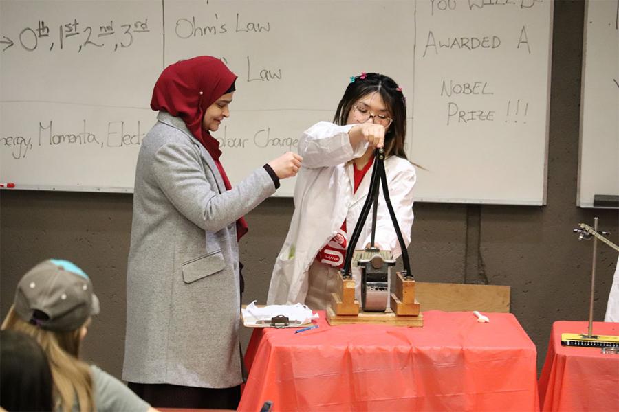
<path fill-rule="evenodd" d="M 303 157 L 304 168 L 325 168 L 346 163 L 360 157 L 367 150 L 367 141 L 353 148 L 349 130 L 354 126 L 338 126 L 329 122 L 318 122 L 303 132 L 298 141 L 298 154 Z"/>

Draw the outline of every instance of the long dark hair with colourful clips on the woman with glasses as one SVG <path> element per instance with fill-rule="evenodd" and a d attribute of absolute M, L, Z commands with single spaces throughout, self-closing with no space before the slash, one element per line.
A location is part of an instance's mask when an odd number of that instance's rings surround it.
<path fill-rule="evenodd" d="M 384 136 L 384 152 L 387 157 L 395 155 L 406 159 L 404 139 L 406 139 L 406 100 L 402 89 L 389 76 L 379 73 L 362 73 L 351 78 L 334 116 L 334 123 L 346 124 L 353 104 L 369 93 L 379 93 L 387 106 L 389 117 L 393 119 Z"/>

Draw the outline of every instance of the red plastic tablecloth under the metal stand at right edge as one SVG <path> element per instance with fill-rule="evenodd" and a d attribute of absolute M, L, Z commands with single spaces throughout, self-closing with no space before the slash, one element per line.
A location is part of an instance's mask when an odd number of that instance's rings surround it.
<path fill-rule="evenodd" d="M 562 333 L 589 332 L 588 322 L 558 321 L 539 376 L 542 411 L 619 411 L 619 354 L 561 345 Z M 619 323 L 594 322 L 593 334 L 619 335 Z"/>

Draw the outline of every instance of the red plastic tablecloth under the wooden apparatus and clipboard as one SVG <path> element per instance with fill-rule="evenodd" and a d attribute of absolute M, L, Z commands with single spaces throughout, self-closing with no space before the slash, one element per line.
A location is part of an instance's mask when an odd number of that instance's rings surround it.
<path fill-rule="evenodd" d="M 423 328 L 319 314 L 298 334 L 254 330 L 239 411 L 539 411 L 535 345 L 512 314 L 431 310 Z"/>

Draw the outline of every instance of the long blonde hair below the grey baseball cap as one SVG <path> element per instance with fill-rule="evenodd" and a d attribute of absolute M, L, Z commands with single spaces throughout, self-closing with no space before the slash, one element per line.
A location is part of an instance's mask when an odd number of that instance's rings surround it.
<path fill-rule="evenodd" d="M 80 412 L 95 409 L 93 382 L 90 367 L 79 360 L 80 329 L 71 332 L 53 332 L 37 328 L 21 319 L 11 306 L 2 323 L 2 330 L 18 330 L 34 337 L 47 354 L 54 380 L 56 408 L 70 412 L 77 400 Z"/>

